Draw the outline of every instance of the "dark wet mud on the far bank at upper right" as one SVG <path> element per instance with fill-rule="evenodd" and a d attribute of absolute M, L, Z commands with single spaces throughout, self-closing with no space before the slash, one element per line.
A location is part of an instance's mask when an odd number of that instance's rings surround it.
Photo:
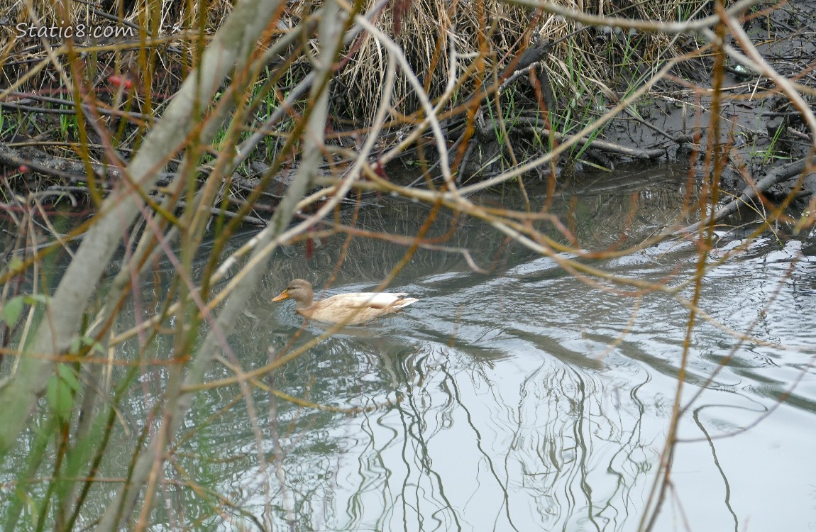
<path fill-rule="evenodd" d="M 816 2 L 789 2 L 767 16 L 757 16 L 743 29 L 774 71 L 799 84 L 798 92 L 811 112 L 816 106 Z M 734 38 L 728 42 L 741 51 Z M 694 78 L 664 84 L 653 102 L 636 107 L 643 121 L 632 116 L 615 119 L 604 131 L 606 140 L 640 149 L 662 148 L 670 161 L 692 161 L 698 173 L 711 172 L 706 153 L 719 143 L 727 153 L 722 185 L 740 191 L 756 184 L 777 166 L 808 157 L 814 132 L 808 131 L 799 109 L 773 79 L 752 72 L 728 58 L 721 84 L 720 120 L 714 120 L 714 61 Z M 715 122 L 719 135 L 713 138 Z M 799 176 L 774 184 L 771 197 L 791 193 Z M 816 194 L 816 174 L 805 176 L 797 202 Z"/>

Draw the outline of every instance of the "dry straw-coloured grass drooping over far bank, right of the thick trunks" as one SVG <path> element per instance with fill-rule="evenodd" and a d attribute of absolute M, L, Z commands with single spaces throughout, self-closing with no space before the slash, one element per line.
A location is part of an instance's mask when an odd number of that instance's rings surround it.
<path fill-rule="evenodd" d="M 374 5 L 369 2 L 367 7 Z M 604 2 L 594 8 L 576 2 L 556 2 L 570 9 L 584 9 L 591 15 L 625 16 L 659 22 L 678 20 L 681 14 L 700 10 L 707 2 L 638 2 L 632 7 L 610 11 Z M 661 33 L 628 34 L 585 27 L 542 11 L 507 2 L 411 2 L 401 21 L 397 42 L 406 53 L 415 73 L 424 81 L 428 95 L 441 94 L 449 76 L 449 47 L 460 58 L 460 94 L 472 95 L 477 87 L 494 86 L 504 69 L 534 42 L 555 42 L 543 68 L 547 70 L 556 95 L 610 95 L 625 91 L 652 69 L 682 51 L 672 38 Z M 379 27 L 394 32 L 392 11 L 386 11 Z M 448 35 L 452 34 L 450 42 Z M 357 120 L 369 120 L 372 102 L 379 99 L 384 51 L 370 35 L 341 74 L 352 95 L 348 113 Z M 397 82 L 397 111 L 415 113 L 418 105 L 404 79 Z M 569 99 L 565 99 L 569 100 Z M 562 103 L 569 103 L 568 101 Z M 598 104 L 598 102 L 584 102 Z"/>

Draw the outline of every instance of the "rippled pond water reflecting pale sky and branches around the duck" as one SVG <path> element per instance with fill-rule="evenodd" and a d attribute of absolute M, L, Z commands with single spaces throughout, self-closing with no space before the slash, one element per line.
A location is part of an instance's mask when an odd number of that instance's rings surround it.
<path fill-rule="evenodd" d="M 559 188 L 552 211 L 585 249 L 623 246 L 681 219 L 685 184 L 673 166 L 588 176 Z M 533 208 L 543 190 L 528 187 Z M 524 201 L 512 187 L 473 199 Z M 412 235 L 429 212 L 380 202 L 358 228 Z M 812 235 L 769 233 L 745 249 L 725 240 L 703 278 L 707 317 L 688 333 L 690 242 L 581 263 L 679 287 L 673 296 L 574 276 L 475 219 L 442 212 L 430 234 L 451 224 L 444 245 L 467 248 L 487 273 L 458 253 L 418 250 L 388 288 L 418 303 L 347 327 L 264 380 L 301 404 L 260 388 L 251 401 L 237 387 L 202 392 L 167 474 L 224 497 L 221 516 L 202 517 L 201 491 L 168 485 L 172 503 L 151 530 L 289 530 L 287 516 L 295 530 L 639 530 L 686 341 L 681 441 L 653 530 L 816 530 Z M 291 278 L 324 295 L 370 290 L 406 251 L 362 237 L 344 250 L 344 240 L 274 257 L 229 339 L 244 370 L 326 330 L 302 329 L 292 303 L 270 301 Z M 164 376 L 145 370 L 125 423 L 144 419 Z M 122 475 L 115 462 L 110 477 Z"/>

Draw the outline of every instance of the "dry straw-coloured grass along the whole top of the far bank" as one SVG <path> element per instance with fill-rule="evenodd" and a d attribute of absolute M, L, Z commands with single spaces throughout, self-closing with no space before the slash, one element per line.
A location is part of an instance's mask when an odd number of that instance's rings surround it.
<path fill-rule="evenodd" d="M 557 3 L 590 15 L 672 21 L 691 16 L 706 2 L 636 2 L 619 11 L 612 11 L 608 2 Z M 65 20 L 66 25 L 73 26 L 118 25 L 132 32 L 134 38 L 124 42 L 76 39 L 76 50 L 85 59 L 81 72 L 85 90 L 93 88 L 101 93 L 100 100 L 114 104 L 118 103 L 115 95 L 105 96 L 106 92 L 115 92 L 115 87 L 109 86 L 111 77 L 130 79 L 143 90 L 141 96 L 134 95 L 129 110 L 147 114 L 154 113 L 156 106 L 175 93 L 189 69 L 197 64 L 209 36 L 232 11 L 228 0 L 105 0 L 99 7 L 91 2 L 74 1 L 67 4 L 67 11 L 63 5 L 51 0 L 11 2 L 8 12 L 12 24 L 6 26 L 9 39 L 0 52 L 0 86 L 41 94 L 64 93 L 66 78 L 73 78 L 68 74 L 70 52 L 67 47 L 59 47 L 59 39 L 51 39 L 55 52 L 49 55 L 44 41 L 18 38 L 12 31 L 16 24 L 30 24 L 38 19 L 46 25 L 54 20 Z M 641 79 L 660 60 L 681 53 L 672 46 L 669 37 L 660 33 L 630 35 L 592 27 L 582 29 L 579 23 L 560 16 L 496 0 L 404 0 L 396 5 L 400 12 L 396 23 L 395 12 L 386 6 L 375 16 L 375 25 L 402 47 L 411 69 L 432 99 L 445 90 L 451 75 L 451 53 L 455 52 L 458 69 L 453 75 L 457 90 L 449 109 L 474 97 L 482 100 L 489 95 L 491 89 L 499 86 L 500 76 L 508 65 L 536 42 L 556 43 L 542 67 L 548 73 L 558 108 L 579 105 L 598 109 L 605 101 L 615 100 L 617 93 L 627 91 L 633 80 Z M 374 6 L 375 0 L 368 0 L 358 7 L 365 12 Z M 312 10 L 307 2 L 287 3 L 277 20 L 277 31 L 285 32 L 299 24 Z M 309 44 L 312 48 L 317 46 L 316 42 Z M 349 45 L 344 53 L 348 61 L 338 73 L 339 88 L 335 89 L 332 116 L 335 125 L 340 124 L 343 129 L 366 126 L 379 103 L 387 54 L 369 33 Z M 303 59 L 308 60 L 308 55 Z M 302 61 L 293 61 L 289 77 L 279 86 L 286 90 L 303 78 L 307 70 Z M 539 104 L 530 94 L 524 105 L 532 109 Z M 405 74 L 398 72 L 392 116 L 410 126 L 415 123 L 418 109 L 415 91 Z"/>

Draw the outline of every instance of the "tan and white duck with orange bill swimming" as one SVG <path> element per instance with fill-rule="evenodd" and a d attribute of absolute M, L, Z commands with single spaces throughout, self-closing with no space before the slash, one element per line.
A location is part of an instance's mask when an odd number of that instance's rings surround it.
<path fill-rule="evenodd" d="M 359 325 L 397 313 L 419 301 L 406 295 L 408 294 L 403 292 L 349 292 L 315 301 L 312 283 L 305 279 L 295 279 L 272 300 L 295 299 L 295 311 L 312 320 Z"/>

